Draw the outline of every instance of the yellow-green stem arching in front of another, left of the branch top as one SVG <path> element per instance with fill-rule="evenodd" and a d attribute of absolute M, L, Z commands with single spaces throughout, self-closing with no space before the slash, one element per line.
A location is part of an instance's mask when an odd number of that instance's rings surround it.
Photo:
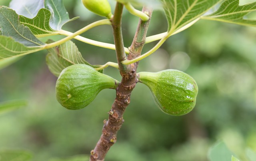
<path fill-rule="evenodd" d="M 50 44 L 45 44 L 43 46 L 43 49 L 49 49 L 49 48 L 53 48 L 55 46 L 58 46 L 60 44 L 63 44 L 65 42 L 67 42 L 68 40 L 71 40 L 72 38 L 86 32 L 87 30 L 90 30 L 91 28 L 94 28 L 94 27 L 100 26 L 100 25 L 111 25 L 111 22 L 108 19 L 93 22 L 92 24 L 89 24 L 88 26 L 85 26 L 84 28 L 78 30 L 77 32 L 74 32 L 74 34 L 71 34 L 71 35 L 67 36 L 66 38 L 63 38 L 59 41 L 56 41 L 56 42 L 53 42 L 53 43 L 50 43 Z"/>

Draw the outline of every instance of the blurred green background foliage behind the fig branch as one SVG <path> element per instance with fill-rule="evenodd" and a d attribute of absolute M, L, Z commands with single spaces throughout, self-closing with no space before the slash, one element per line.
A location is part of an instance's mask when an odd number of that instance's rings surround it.
<path fill-rule="evenodd" d="M 8 6 L 9 2 L 1 0 L 0 5 Z M 110 2 L 114 8 L 114 0 Z M 66 24 L 64 30 L 75 32 L 102 19 L 88 12 L 80 0 L 64 0 L 64 4 L 70 18 L 80 16 Z M 137 23 L 138 18 L 124 10 L 122 29 L 126 47 L 132 42 Z M 148 36 L 166 30 L 164 12 L 155 10 Z M 110 26 L 99 26 L 82 36 L 114 42 Z M 51 38 L 58 40 L 60 36 Z M 91 64 L 116 62 L 114 50 L 74 42 Z M 146 44 L 143 51 L 155 44 Z M 34 153 L 36 161 L 89 154 L 101 135 L 115 91 L 101 91 L 84 109 L 65 109 L 56 101 L 57 78 L 46 66 L 46 54 L 30 54 L 0 70 L 0 102 L 29 100 L 27 107 L 0 115 L 0 149 L 27 149 Z M 218 140 L 224 140 L 246 161 L 246 147 L 256 151 L 256 28 L 200 20 L 140 61 L 138 72 L 169 68 L 190 74 L 198 83 L 194 110 L 180 117 L 162 113 L 150 90 L 138 83 L 118 141 L 106 161 L 207 161 L 209 147 Z M 104 73 L 120 80 L 115 68 L 109 67 Z"/>

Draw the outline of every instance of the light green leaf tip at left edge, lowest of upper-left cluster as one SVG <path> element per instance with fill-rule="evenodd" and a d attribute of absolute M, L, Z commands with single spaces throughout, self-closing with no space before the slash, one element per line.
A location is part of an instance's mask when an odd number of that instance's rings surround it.
<path fill-rule="evenodd" d="M 42 50 L 42 48 L 26 47 L 19 42 L 16 42 L 13 38 L 7 36 L 0 36 L 0 61 L 6 58 L 14 58 L 18 56 L 23 56 L 33 52 Z"/>

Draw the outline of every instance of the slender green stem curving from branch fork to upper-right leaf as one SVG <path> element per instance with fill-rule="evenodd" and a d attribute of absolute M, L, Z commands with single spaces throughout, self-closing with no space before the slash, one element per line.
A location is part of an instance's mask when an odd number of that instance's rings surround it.
<path fill-rule="evenodd" d="M 124 60 L 122 61 L 122 64 L 125 64 L 125 65 L 128 65 L 128 64 L 132 64 L 132 63 L 135 63 L 135 62 L 138 62 L 148 56 L 150 56 L 152 53 L 154 53 L 156 50 L 158 50 L 160 48 L 160 46 L 162 46 L 162 44 L 164 44 L 164 42 L 166 41 L 166 39 L 168 38 L 168 34 L 166 34 L 157 44 L 156 46 L 154 46 L 151 50 L 149 50 L 148 52 L 146 52 L 145 54 L 137 57 L 137 58 L 134 58 L 132 60 Z"/>

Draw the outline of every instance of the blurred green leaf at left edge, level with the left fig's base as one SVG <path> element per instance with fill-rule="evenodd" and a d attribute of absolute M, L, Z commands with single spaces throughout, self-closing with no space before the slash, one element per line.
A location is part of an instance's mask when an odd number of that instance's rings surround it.
<path fill-rule="evenodd" d="M 11 100 L 11 101 L 0 102 L 0 113 L 11 111 L 19 107 L 26 106 L 27 104 L 28 104 L 28 101 L 26 100 Z M 0 161 L 2 160 L 0 159 Z"/>

